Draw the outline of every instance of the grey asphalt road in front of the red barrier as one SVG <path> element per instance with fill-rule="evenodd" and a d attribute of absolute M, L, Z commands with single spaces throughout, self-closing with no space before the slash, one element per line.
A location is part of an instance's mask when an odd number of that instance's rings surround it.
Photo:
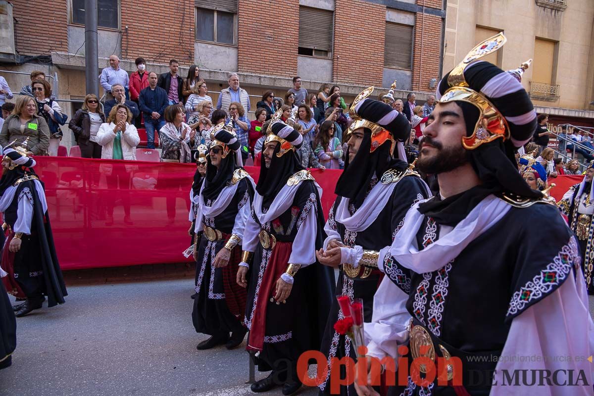
<path fill-rule="evenodd" d="M 192 280 L 68 287 L 64 305 L 17 318 L 17 350 L 0 371 L 0 395 L 253 395 L 245 343 L 196 350 L 207 336 L 192 326 Z"/>

